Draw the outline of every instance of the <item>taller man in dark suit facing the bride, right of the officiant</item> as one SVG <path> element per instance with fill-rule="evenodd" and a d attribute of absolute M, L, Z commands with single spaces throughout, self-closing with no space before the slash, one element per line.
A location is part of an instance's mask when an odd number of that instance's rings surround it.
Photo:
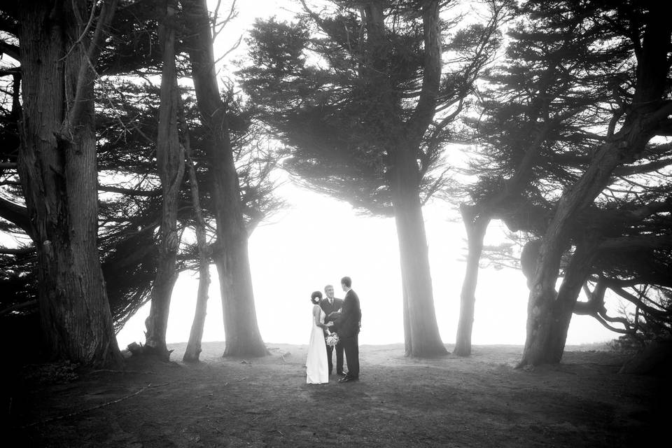
<path fill-rule="evenodd" d="M 346 276 L 341 279 L 341 287 L 345 293 L 345 299 L 341 314 L 336 318 L 333 329 L 338 333 L 348 364 L 348 372 L 338 380 L 339 383 L 344 383 L 359 379 L 359 327 L 362 310 L 359 307 L 359 297 L 352 290 L 350 277 Z"/>

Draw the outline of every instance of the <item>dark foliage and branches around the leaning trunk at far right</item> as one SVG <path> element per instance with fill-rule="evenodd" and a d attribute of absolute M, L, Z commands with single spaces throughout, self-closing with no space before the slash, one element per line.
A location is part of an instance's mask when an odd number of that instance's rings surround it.
<path fill-rule="evenodd" d="M 469 188 L 470 207 L 539 239 L 562 193 L 576 190 L 598 151 L 628 132 L 643 76 L 654 76 L 643 75 L 652 68 L 642 55 L 643 36 L 653 25 L 650 6 L 628 2 L 528 1 L 517 15 L 521 20 L 510 31 L 506 63 L 486 79 L 482 117 L 472 123 L 482 151 L 471 166 L 478 181 Z M 668 45 L 664 36 L 654 45 Z M 657 101 L 664 108 L 669 87 Z M 637 143 L 622 144 L 640 149 L 622 157 L 601 193 L 577 208 L 562 230 L 560 267 L 567 284 L 577 255 L 587 254 L 573 274 L 583 280 L 570 295 L 575 300 L 581 284 L 586 291 L 575 312 L 618 332 L 633 332 L 635 326 L 614 317 L 617 310 L 610 315 L 605 309 L 608 289 L 627 297 L 639 318 L 669 328 L 668 308 L 660 300 L 669 287 L 661 273 L 672 255 L 667 121 L 660 120 Z M 534 267 L 533 261 L 530 278 Z"/>

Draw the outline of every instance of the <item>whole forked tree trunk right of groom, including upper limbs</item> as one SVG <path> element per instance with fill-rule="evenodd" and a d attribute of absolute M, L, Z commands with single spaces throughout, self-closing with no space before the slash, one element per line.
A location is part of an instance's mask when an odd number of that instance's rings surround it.
<path fill-rule="evenodd" d="M 447 350 L 441 342 L 434 309 L 429 251 L 420 202 L 418 157 L 421 141 L 435 114 L 441 79 L 439 3 L 435 0 L 425 2 L 421 13 L 425 43 L 421 94 L 412 118 L 399 127 L 402 129 L 390 130 L 391 135 L 396 135 L 396 142 L 391 151 L 389 173 L 401 262 L 406 356 L 430 357 L 443 355 Z M 379 57 L 384 57 L 386 52 L 376 48 L 388 45 L 386 36 L 380 35 L 380 30 L 384 29 L 382 17 L 380 11 L 372 15 L 379 23 L 371 29 L 377 34 L 370 36 L 372 43 L 377 45 L 372 48 L 372 54 L 379 53 Z M 380 63 L 385 66 L 384 61 L 378 60 L 374 66 Z M 385 82 L 381 80 L 381 83 Z M 391 91 L 388 93 L 392 94 Z M 395 111 L 395 106 L 388 105 L 387 109 Z"/>

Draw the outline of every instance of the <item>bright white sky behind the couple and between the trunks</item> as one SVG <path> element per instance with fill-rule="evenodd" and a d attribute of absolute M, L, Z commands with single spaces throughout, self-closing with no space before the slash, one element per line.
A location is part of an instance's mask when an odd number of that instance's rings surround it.
<path fill-rule="evenodd" d="M 216 1 L 211 1 L 211 8 Z M 222 2 L 228 13 L 230 2 Z M 297 10 L 297 1 L 239 1 L 239 17 L 216 41 L 222 55 L 255 17 L 277 15 L 279 20 Z M 244 45 L 244 44 L 243 44 Z M 235 55 L 244 54 L 240 48 Z M 221 72 L 225 73 L 225 69 Z M 267 343 L 307 344 L 311 328 L 310 293 L 327 283 L 343 297 L 339 279 L 353 279 L 362 307 L 360 344 L 403 342 L 402 298 L 397 237 L 393 219 L 357 216 L 349 204 L 287 183 L 279 189 L 290 208 L 257 228 L 249 241 L 255 305 L 262 338 Z M 459 316 L 460 289 L 465 264 L 459 262 L 465 243 L 460 222 L 450 222 L 450 207 L 425 208 L 426 230 L 434 286 L 435 308 L 443 342 L 454 343 Z M 487 239 L 501 236 L 496 223 Z M 222 341 L 224 328 L 216 270 L 212 269 L 208 316 L 203 341 Z M 176 283 L 168 324 L 167 342 L 186 342 L 193 320 L 196 274 L 181 274 Z M 528 291 L 521 272 L 482 269 L 477 288 L 474 344 L 524 344 Z M 149 306 L 140 309 L 118 335 L 121 348 L 144 342 L 144 319 Z M 279 332 L 279 328 L 282 329 Z M 574 316 L 568 344 L 605 342 L 615 337 L 593 318 Z"/>

